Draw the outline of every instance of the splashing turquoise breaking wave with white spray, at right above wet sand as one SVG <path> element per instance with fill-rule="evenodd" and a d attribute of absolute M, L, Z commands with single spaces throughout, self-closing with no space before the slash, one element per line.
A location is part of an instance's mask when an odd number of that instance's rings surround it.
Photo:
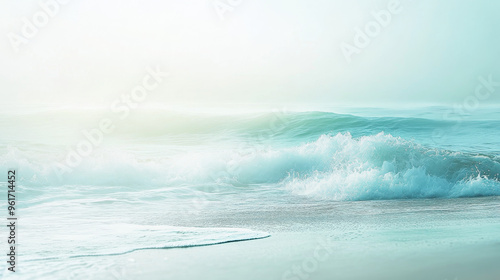
<path fill-rule="evenodd" d="M 485 155 L 430 149 L 380 133 L 321 136 L 302 147 L 327 167 L 291 172 L 284 187 L 333 200 L 500 195 L 500 162 Z"/>

